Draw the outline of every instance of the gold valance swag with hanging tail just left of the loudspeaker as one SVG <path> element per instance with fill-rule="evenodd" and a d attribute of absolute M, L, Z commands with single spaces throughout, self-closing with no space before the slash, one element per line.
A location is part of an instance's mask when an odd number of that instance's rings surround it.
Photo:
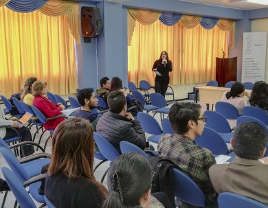
<path fill-rule="evenodd" d="M 62 0 L 49 0 L 38 11 L 47 16 L 66 15 L 71 34 L 73 34 L 74 38 L 76 38 L 76 43 L 81 43 L 79 3 Z"/>

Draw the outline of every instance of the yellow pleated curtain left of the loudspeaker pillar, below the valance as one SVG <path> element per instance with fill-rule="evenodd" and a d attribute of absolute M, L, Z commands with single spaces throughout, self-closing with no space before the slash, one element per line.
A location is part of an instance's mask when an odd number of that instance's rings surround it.
<path fill-rule="evenodd" d="M 30 76 L 45 80 L 53 93 L 76 92 L 74 37 L 65 16 L 17 13 L 1 7 L 0 31 L 3 95 L 21 91 Z"/>

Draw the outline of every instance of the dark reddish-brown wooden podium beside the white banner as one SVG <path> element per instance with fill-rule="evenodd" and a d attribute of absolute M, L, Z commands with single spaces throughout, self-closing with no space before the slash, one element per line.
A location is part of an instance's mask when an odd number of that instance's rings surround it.
<path fill-rule="evenodd" d="M 218 58 L 216 57 L 216 80 L 219 86 L 224 86 L 227 82 L 236 81 L 237 57 Z"/>

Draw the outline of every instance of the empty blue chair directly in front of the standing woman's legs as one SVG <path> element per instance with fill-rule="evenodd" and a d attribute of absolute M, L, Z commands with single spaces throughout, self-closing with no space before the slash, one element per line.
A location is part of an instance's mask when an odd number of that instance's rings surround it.
<path fill-rule="evenodd" d="M 165 97 L 159 93 L 150 93 L 150 103 L 153 106 L 158 107 L 158 109 L 155 110 L 155 112 L 160 113 L 160 119 L 162 119 L 162 115 L 164 118 L 164 115 L 168 114 L 170 111 L 170 108 L 166 107 L 168 106 L 168 103 L 166 102 Z"/>

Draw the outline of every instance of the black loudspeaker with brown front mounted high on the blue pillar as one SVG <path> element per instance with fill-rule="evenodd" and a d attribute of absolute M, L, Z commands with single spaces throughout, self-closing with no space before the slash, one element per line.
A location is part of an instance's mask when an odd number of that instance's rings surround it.
<path fill-rule="evenodd" d="M 99 36 L 102 30 L 99 8 L 87 6 L 81 8 L 81 28 L 82 36 L 86 38 L 96 38 Z"/>

